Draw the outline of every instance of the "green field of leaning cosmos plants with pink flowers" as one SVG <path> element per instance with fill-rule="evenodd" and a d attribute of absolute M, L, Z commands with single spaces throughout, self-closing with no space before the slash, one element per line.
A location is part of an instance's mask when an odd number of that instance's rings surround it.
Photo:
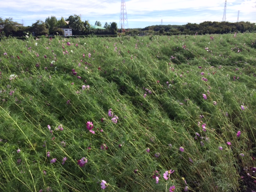
<path fill-rule="evenodd" d="M 255 33 L 2 38 L 0 191 L 252 191 L 255 65 Z"/>

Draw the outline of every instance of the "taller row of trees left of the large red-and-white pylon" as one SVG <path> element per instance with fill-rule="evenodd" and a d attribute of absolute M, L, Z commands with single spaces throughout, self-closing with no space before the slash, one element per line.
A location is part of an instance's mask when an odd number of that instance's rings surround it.
<path fill-rule="evenodd" d="M 95 25 L 102 26 L 99 21 Z M 72 35 L 90 35 L 90 34 L 116 34 L 118 28 L 116 22 L 106 22 L 104 25 L 105 30 L 91 29 L 88 20 L 82 21 L 80 16 L 69 16 L 66 20 L 61 17 L 57 20 L 55 16 L 49 16 L 45 22 L 37 20 L 32 26 L 23 26 L 18 22 L 14 22 L 12 18 L 0 18 L 0 33 L 4 36 L 22 37 L 26 33 L 33 34 L 34 36 L 41 36 L 46 34 L 59 34 L 63 35 L 62 28 L 72 28 Z"/>

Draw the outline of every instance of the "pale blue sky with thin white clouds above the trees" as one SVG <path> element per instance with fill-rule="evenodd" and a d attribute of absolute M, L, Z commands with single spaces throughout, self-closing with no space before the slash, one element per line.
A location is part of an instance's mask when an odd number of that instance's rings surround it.
<path fill-rule="evenodd" d="M 78 15 L 82 21 L 120 24 L 121 0 L 0 0 L 0 17 L 31 26 L 48 16 L 58 20 Z M 125 0 L 128 28 L 222 22 L 225 0 Z M 256 23 L 256 0 L 227 0 L 226 21 Z M 125 12 L 125 10 L 124 10 Z M 127 23 L 125 23 L 127 24 Z"/>

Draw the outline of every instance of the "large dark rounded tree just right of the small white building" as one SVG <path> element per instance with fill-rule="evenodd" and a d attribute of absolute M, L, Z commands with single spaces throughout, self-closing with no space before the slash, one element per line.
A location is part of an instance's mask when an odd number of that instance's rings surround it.
<path fill-rule="evenodd" d="M 84 24 L 78 15 L 69 16 L 68 19 L 68 26 L 72 28 L 73 35 L 80 35 L 82 31 L 84 31 Z"/>

